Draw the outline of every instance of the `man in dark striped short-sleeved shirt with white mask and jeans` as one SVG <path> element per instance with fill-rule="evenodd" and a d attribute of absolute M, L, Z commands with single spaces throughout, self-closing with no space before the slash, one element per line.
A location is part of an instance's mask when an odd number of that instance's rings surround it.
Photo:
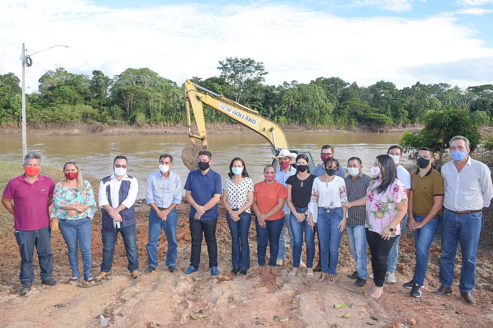
<path fill-rule="evenodd" d="M 371 178 L 361 172 L 363 165 L 358 157 L 348 159 L 349 175 L 346 177 L 346 190 L 348 202 L 353 202 L 366 196 L 366 190 Z M 366 205 L 353 206 L 348 209 L 348 231 L 349 248 L 356 262 L 356 271 L 348 274 L 351 279 L 356 279 L 355 286 L 363 287 L 366 284 L 368 271 L 366 269 Z"/>

